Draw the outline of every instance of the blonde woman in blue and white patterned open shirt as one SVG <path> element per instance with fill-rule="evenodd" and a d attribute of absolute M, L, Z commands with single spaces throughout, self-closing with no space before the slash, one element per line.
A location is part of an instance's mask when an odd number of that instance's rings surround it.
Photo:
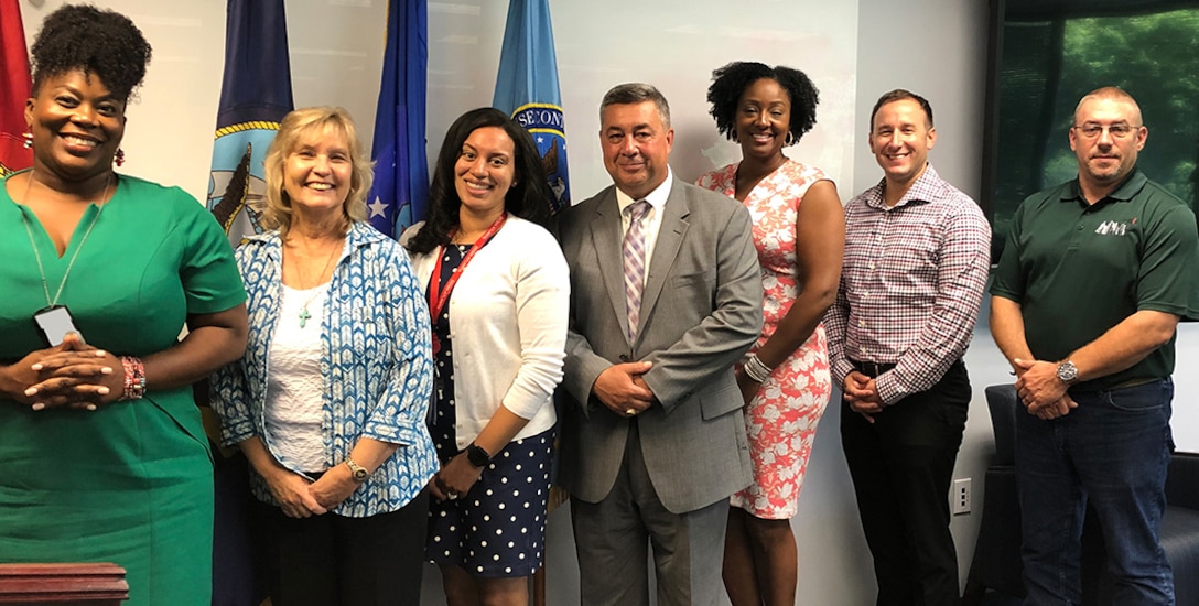
<path fill-rule="evenodd" d="M 212 407 L 253 469 L 272 601 L 417 605 L 436 471 L 420 284 L 364 223 L 370 163 L 344 110 L 288 114 L 265 164 L 271 231 L 236 255 L 249 345 Z"/>

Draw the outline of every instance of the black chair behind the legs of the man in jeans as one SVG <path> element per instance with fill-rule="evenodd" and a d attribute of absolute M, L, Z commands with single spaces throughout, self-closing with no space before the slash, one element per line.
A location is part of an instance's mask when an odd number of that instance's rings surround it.
<path fill-rule="evenodd" d="M 1020 508 L 1016 493 L 1016 414 L 1025 414 L 1011 384 L 987 388 L 987 406 L 995 430 L 995 459 L 983 486 L 978 543 L 966 576 L 965 606 L 981 604 L 989 590 L 1025 595 L 1020 578 Z M 1177 606 L 1199 606 L 1199 454 L 1174 453 L 1165 480 L 1162 547 L 1174 569 Z M 1087 511 L 1083 525 L 1083 604 L 1111 601 L 1107 545 L 1098 522 Z"/>

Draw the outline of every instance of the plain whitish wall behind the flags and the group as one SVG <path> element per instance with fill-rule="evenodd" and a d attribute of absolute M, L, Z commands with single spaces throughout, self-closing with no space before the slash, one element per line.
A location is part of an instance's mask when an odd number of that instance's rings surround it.
<path fill-rule="evenodd" d="M 20 2 L 26 41 L 42 17 L 61 4 Z M 128 163 L 122 170 L 179 184 L 203 198 L 221 86 L 225 2 L 100 4 L 128 14 L 155 48 L 141 99 L 128 110 L 123 143 Z M 344 105 L 362 132 L 369 133 L 382 62 L 385 0 L 289 0 L 287 6 L 296 104 Z M 430 2 L 430 158 L 454 117 L 490 104 L 506 10 L 507 2 L 498 0 Z M 552 0 L 550 10 L 578 200 L 609 183 L 598 156 L 597 105 L 603 92 L 621 81 L 657 84 L 670 99 L 676 128 L 671 164 L 680 177 L 693 180 L 736 159 L 736 147 L 717 140 L 704 103 L 711 69 L 733 60 L 784 63 L 812 77 L 821 93 L 819 123 L 789 153 L 825 169 L 843 199 L 881 177 L 866 145 L 867 121 L 875 98 L 893 87 L 929 98 L 939 132 L 932 160 L 948 181 L 978 194 L 986 2 Z M 1174 422 L 1180 447 L 1191 450 L 1199 449 L 1199 411 L 1186 400 L 1199 392 L 1199 378 L 1186 368 L 1199 359 L 1199 345 L 1193 345 L 1197 331 L 1189 326 L 1180 331 Z M 982 389 L 1010 377 L 984 328 L 976 332 L 966 363 L 975 399 L 957 477 L 975 479 L 977 504 L 993 449 Z M 839 412 L 832 405 L 817 435 L 793 521 L 800 545 L 796 604 L 864 605 L 874 592 L 838 424 Z M 549 521 L 548 601 L 553 605 L 578 601 L 568 515 L 562 510 Z M 953 521 L 963 578 L 977 523 L 977 513 Z M 444 604 L 439 576 L 432 568 L 428 572 L 423 601 Z"/>

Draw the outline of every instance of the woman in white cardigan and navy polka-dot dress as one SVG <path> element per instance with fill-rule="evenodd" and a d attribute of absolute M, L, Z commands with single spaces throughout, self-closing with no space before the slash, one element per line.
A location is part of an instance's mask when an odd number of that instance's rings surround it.
<path fill-rule="evenodd" d="M 552 199 L 529 133 L 481 108 L 450 127 L 428 222 L 405 234 L 433 319 L 441 469 L 426 555 L 450 606 L 528 604 L 542 563 L 570 305 L 566 261 L 541 225 Z"/>

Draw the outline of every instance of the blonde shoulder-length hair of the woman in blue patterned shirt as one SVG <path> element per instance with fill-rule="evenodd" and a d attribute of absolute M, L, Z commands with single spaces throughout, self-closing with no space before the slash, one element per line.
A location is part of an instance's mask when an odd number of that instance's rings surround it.
<path fill-rule="evenodd" d="M 349 231 L 354 222 L 367 220 L 367 194 L 374 181 L 374 163 L 362 150 L 362 140 L 349 111 L 343 108 L 317 107 L 297 109 L 283 116 L 279 132 L 266 151 L 266 159 L 263 160 L 266 171 L 266 195 L 261 207 L 258 208 L 259 223 L 264 229 L 277 229 L 287 235 L 291 226 L 291 200 L 283 189 L 283 164 L 296 150 L 301 139 L 312 134 L 326 134 L 331 129 L 345 135 L 353 162 L 350 192 L 342 205 L 345 230 Z"/>

